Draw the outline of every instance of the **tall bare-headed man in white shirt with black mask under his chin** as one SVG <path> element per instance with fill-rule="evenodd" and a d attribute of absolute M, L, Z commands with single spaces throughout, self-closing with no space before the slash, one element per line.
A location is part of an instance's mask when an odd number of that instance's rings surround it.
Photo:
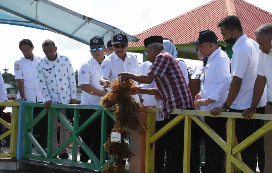
<path fill-rule="evenodd" d="M 243 33 L 242 25 L 238 16 L 227 16 L 218 23 L 221 34 L 227 44 L 233 44 L 233 55 L 231 58 L 231 83 L 226 102 L 222 107 L 211 109 L 212 115 L 217 115 L 219 112 L 225 112 L 228 109 L 230 112 L 243 112 L 250 107 L 254 81 L 257 78 L 258 52 L 259 44 L 256 41 L 247 38 Z M 265 113 L 266 104 L 266 89 L 257 106 L 257 113 Z M 248 136 L 262 127 L 263 120 L 246 120 L 242 118 L 236 119 L 235 132 L 238 143 L 241 143 Z M 242 152 L 242 161 L 256 172 L 257 157 L 258 167 L 261 172 L 264 169 L 264 139 L 263 137 L 256 140 Z"/>

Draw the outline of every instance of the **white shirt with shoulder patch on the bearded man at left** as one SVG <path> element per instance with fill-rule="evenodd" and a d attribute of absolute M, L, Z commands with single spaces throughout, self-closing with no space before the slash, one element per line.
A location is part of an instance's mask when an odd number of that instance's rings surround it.
<path fill-rule="evenodd" d="M 28 101 L 36 102 L 37 100 L 37 102 L 42 102 L 44 100 L 39 87 L 36 70 L 37 62 L 40 59 L 41 58 L 33 55 L 33 61 L 22 57 L 14 62 L 15 79 L 24 80 L 25 98 L 27 98 Z M 17 95 L 17 99 L 18 98 L 21 98 L 19 92 Z"/>

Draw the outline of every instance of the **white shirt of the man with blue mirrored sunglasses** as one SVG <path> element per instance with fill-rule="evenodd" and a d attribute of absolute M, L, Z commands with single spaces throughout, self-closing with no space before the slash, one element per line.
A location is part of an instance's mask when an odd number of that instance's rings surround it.
<path fill-rule="evenodd" d="M 83 63 L 78 72 L 78 85 L 89 84 L 96 89 L 103 91 L 99 83 L 101 65 L 92 56 L 86 63 Z M 81 104 L 100 105 L 101 96 L 93 95 L 82 90 Z"/>

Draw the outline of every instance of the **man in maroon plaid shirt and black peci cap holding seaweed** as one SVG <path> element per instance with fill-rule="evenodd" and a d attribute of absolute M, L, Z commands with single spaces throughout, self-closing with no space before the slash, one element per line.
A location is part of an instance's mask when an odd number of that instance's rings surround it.
<path fill-rule="evenodd" d="M 150 84 L 155 79 L 157 88 L 142 89 L 137 86 L 134 94 L 159 95 L 163 101 L 160 117 L 165 117 L 164 121 L 167 124 L 177 116 L 169 114 L 171 110 L 193 108 L 192 96 L 178 62 L 168 52 L 163 51 L 163 37 L 151 36 L 143 42 L 146 48 L 146 57 L 153 63 L 149 72 L 146 75 L 123 72 L 118 76 L 120 76 L 121 81 L 132 79 L 143 84 Z M 192 125 L 194 125 L 193 122 Z M 184 121 L 178 123 L 165 135 L 168 172 L 182 172 Z M 194 134 L 192 134 L 191 142 L 195 145 Z M 199 172 L 195 155 L 195 147 L 191 147 L 191 173 Z"/>

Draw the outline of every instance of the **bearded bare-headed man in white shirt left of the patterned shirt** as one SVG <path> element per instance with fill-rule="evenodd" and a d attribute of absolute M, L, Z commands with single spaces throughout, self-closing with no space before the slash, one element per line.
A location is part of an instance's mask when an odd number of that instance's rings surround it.
<path fill-rule="evenodd" d="M 42 103 L 44 98 L 39 87 L 37 79 L 36 64 L 41 59 L 33 55 L 34 46 L 29 39 L 23 39 L 19 42 L 19 48 L 23 53 L 23 57 L 14 62 L 15 79 L 18 82 L 19 92 L 17 100 L 33 101 L 34 103 Z M 42 111 L 41 107 L 33 108 L 33 118 Z M 48 115 L 45 115 L 34 127 L 33 135 L 42 146 L 47 146 L 47 124 Z"/>

